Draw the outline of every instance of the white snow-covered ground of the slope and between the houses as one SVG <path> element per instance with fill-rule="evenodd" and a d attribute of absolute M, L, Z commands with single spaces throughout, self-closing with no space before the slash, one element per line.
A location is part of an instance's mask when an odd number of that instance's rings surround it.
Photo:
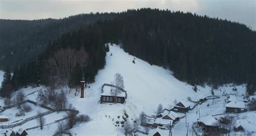
<path fill-rule="evenodd" d="M 135 64 L 132 63 L 134 58 Z M 127 91 L 126 103 L 100 104 L 102 85 L 104 83 L 110 84 L 116 73 L 120 73 L 124 78 L 124 89 Z M 85 89 L 85 98 L 75 97 L 73 92 L 68 94 L 69 103 L 79 110 L 79 114 L 87 114 L 91 118 L 91 121 L 87 123 L 75 125 L 70 130 L 73 135 L 124 135 L 120 122 L 124 120 L 133 121 L 139 117 L 142 111 L 147 115 L 156 115 L 159 104 L 162 104 L 164 108 L 170 108 L 174 105 L 174 100 L 187 100 L 187 97 L 190 97 L 196 101 L 211 95 L 210 86 L 198 86 L 198 91 L 195 92 L 192 89 L 193 86 L 173 77 L 172 71 L 150 65 L 137 57 L 131 56 L 120 49 L 118 45 L 110 45 L 104 69 L 99 70 L 95 83 L 89 84 L 89 86 L 90 88 Z M 234 93 L 239 96 L 245 94 L 245 85 L 236 86 L 238 91 L 233 91 L 233 88 L 232 84 L 228 84 L 214 90 L 215 95 L 220 96 L 220 99 L 216 99 L 215 104 L 212 104 L 212 101 L 206 101 L 206 103 L 199 105 L 200 116 L 224 113 L 226 97 L 222 94 Z M 25 94 L 36 91 L 26 97 L 26 99 L 36 101 L 37 90 L 40 89 L 44 90 L 45 87 L 28 87 L 19 91 L 23 91 Z M 67 90 L 64 89 L 68 92 Z M 197 108 L 194 108 L 187 113 L 189 135 L 192 133 L 191 124 L 199 118 L 199 111 L 198 113 L 196 111 Z M 125 112 L 129 115 L 128 118 L 125 117 Z M 46 118 L 52 118 L 51 114 Z M 119 121 L 119 124 L 116 121 Z M 42 131 L 36 129 L 28 132 L 36 135 L 52 135 L 56 128 L 57 124 L 52 124 Z M 172 133 L 173 135 L 186 135 L 185 118 L 178 121 Z"/>

